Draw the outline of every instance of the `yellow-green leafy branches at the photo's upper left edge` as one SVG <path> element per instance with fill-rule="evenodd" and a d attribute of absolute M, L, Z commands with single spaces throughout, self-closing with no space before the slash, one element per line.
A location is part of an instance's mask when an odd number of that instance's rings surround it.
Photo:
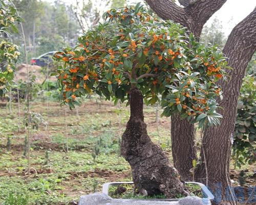
<path fill-rule="evenodd" d="M 14 76 L 14 64 L 19 56 L 17 45 L 13 44 L 8 36 L 11 31 L 18 32 L 15 21 L 21 20 L 13 6 L 0 0 L 0 97 L 7 93 Z"/>

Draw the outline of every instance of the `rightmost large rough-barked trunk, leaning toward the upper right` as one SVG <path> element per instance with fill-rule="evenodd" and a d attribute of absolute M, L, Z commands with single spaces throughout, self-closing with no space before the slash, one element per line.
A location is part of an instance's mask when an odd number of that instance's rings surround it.
<path fill-rule="evenodd" d="M 242 20 L 228 37 L 223 53 L 228 58 L 229 82 L 222 81 L 223 100 L 220 101 L 219 112 L 223 116 L 218 127 L 209 127 L 205 130 L 203 146 L 205 150 L 206 166 L 208 169 L 208 186 L 215 194 L 217 204 L 233 204 L 231 200 L 229 162 L 231 153 L 231 138 L 237 116 L 237 102 L 239 90 L 245 75 L 246 67 L 256 50 L 256 9 Z M 201 151 L 201 158 L 204 161 Z M 205 164 L 201 164 L 196 171 L 199 181 L 206 183 Z M 219 191 L 217 191 L 219 190 Z M 220 192 L 222 190 L 222 192 Z"/>

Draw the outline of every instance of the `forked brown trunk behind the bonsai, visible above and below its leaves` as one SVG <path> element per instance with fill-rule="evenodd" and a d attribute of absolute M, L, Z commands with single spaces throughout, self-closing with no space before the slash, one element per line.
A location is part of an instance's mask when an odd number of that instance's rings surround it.
<path fill-rule="evenodd" d="M 187 2 L 185 8 L 181 8 L 171 0 L 146 0 L 147 4 L 163 19 L 170 19 L 188 28 L 195 36 L 201 34 L 204 24 L 226 0 L 191 1 Z M 190 4 L 193 2 L 192 4 Z M 178 116 L 172 116 L 172 153 L 175 168 L 179 171 L 183 180 L 191 181 L 189 172 L 193 168 L 192 161 L 197 160 L 195 149 L 194 125 L 187 120 L 180 120 Z M 182 142 L 182 143 L 181 143 Z M 184 150 L 186 150 L 184 152 Z"/>

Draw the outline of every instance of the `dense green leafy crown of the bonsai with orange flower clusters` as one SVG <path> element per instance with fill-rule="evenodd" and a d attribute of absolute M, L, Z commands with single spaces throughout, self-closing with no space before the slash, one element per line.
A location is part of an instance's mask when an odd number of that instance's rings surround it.
<path fill-rule="evenodd" d="M 76 98 L 96 93 L 107 100 L 125 101 L 137 87 L 147 104 L 162 95 L 163 116 L 218 124 L 216 82 L 227 62 L 216 48 L 206 48 L 186 29 L 146 13 L 141 5 L 111 9 L 104 22 L 93 27 L 74 48 L 55 59 L 65 62 L 58 70 L 63 103 L 71 108 Z"/>

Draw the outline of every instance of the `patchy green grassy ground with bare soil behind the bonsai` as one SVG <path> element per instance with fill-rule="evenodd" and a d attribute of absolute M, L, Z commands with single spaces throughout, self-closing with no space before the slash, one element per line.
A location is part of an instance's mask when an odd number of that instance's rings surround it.
<path fill-rule="evenodd" d="M 33 131 L 30 176 L 25 174 L 24 106 L 18 131 L 17 104 L 12 105 L 12 113 L 0 105 L 0 203 L 10 193 L 20 193 L 29 196 L 30 204 L 77 204 L 80 195 L 101 191 L 106 182 L 132 180 L 130 166 L 119 150 L 120 136 L 129 119 L 129 109 L 124 105 L 92 99 L 76 110 L 68 110 L 67 141 L 65 108 L 59 102 L 48 106 L 46 102 L 33 102 L 32 110 L 41 113 L 48 126 L 40 125 Z M 144 109 L 148 134 L 172 161 L 169 119 L 160 118 L 158 134 L 155 113 L 155 107 Z M 236 177 L 236 171 L 233 173 Z"/>

